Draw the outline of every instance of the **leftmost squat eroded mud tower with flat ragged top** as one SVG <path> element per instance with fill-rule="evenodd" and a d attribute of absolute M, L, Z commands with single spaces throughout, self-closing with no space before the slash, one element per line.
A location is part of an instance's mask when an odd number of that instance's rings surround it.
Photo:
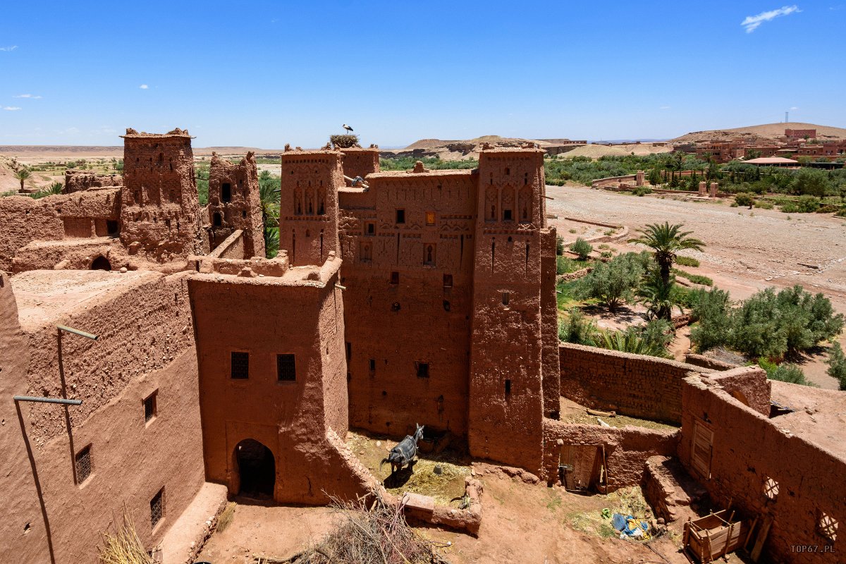
<path fill-rule="evenodd" d="M 201 253 L 200 201 L 188 131 L 147 134 L 127 129 L 121 137 L 120 238 L 129 253 L 162 261 Z"/>

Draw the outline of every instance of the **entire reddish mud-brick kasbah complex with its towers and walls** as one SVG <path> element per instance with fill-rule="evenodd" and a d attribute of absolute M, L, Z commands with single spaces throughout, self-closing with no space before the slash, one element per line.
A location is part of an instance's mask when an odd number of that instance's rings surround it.
<path fill-rule="evenodd" d="M 0 561 L 94 561 L 124 507 L 152 550 L 209 483 L 367 496 L 382 486 L 347 431 L 415 424 L 551 487 L 645 485 L 655 507 L 673 487 L 651 469 L 673 460 L 713 500 L 772 517 L 767 557 L 843 550 L 841 392 L 558 342 L 543 151 L 382 172 L 376 146 L 287 147 L 278 172 L 273 259 L 254 156 L 213 156 L 201 206 L 182 129 L 128 129 L 122 182 L 0 198 Z M 681 427 L 568 423 L 562 397 Z M 813 407 L 774 415 L 771 397 Z M 67 399 L 82 402 L 51 403 Z M 469 508 L 432 500 L 424 518 L 477 532 L 481 485 L 465 491 Z"/>

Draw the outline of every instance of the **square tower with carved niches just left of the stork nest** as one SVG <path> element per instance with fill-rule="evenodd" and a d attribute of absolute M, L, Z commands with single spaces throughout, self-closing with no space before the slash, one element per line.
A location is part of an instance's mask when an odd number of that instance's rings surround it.
<path fill-rule="evenodd" d="M 338 187 L 343 186 L 340 151 L 291 150 L 282 154 L 279 249 L 291 266 L 321 265 L 338 252 Z"/>

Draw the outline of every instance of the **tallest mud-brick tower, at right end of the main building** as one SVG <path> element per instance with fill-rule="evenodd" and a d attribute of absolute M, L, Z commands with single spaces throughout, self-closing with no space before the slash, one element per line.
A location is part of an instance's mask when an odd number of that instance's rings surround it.
<path fill-rule="evenodd" d="M 555 308 L 554 261 L 550 278 L 543 272 L 550 262 L 541 260 L 549 255 L 545 247 L 555 253 L 555 232 L 547 229 L 544 213 L 543 151 L 481 151 L 477 200 L 470 453 L 541 468 L 549 340 L 544 311 L 552 308 L 554 315 Z M 552 304 L 545 297 L 550 286 Z M 548 409 L 557 410 L 552 403 Z"/>

